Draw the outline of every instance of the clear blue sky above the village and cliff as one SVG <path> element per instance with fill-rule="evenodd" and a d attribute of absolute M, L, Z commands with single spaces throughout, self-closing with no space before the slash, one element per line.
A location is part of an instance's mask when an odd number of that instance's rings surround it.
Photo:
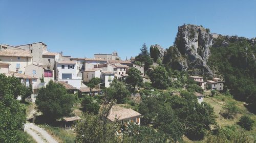
<path fill-rule="evenodd" d="M 168 48 L 183 23 L 256 37 L 256 0 L 0 0 L 0 6 L 0 43 L 44 42 L 52 52 L 80 58 L 114 50 L 130 58 L 143 43 Z"/>

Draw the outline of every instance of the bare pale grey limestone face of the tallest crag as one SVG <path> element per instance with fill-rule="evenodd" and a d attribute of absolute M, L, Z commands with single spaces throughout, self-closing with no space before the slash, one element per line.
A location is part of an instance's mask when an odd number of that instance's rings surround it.
<path fill-rule="evenodd" d="M 188 66 L 186 69 L 201 69 L 199 74 L 213 74 L 206 64 L 213 39 L 214 36 L 210 34 L 209 30 L 202 26 L 188 24 L 178 27 L 175 46 L 186 59 Z"/>

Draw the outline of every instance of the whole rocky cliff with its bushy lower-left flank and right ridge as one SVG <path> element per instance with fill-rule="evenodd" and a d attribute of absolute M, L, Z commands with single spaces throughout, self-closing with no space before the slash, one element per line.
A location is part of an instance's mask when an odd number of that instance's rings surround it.
<path fill-rule="evenodd" d="M 224 39 L 221 43 L 218 39 Z M 245 38 L 237 36 L 221 36 L 211 34 L 208 28 L 198 25 L 182 25 L 178 27 L 175 44 L 166 49 L 163 64 L 173 69 L 188 70 L 192 74 L 213 75 L 214 72 L 207 65 L 210 47 L 228 46 L 233 40 Z M 247 39 L 256 45 L 256 39 Z"/>

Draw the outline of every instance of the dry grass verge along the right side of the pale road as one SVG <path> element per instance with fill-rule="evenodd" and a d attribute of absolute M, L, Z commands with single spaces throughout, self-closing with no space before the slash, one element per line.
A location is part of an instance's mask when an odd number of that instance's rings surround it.
<path fill-rule="evenodd" d="M 75 132 L 71 129 L 65 130 L 61 127 L 52 127 L 49 125 L 40 125 L 48 133 L 50 133 L 58 142 L 74 143 L 75 142 Z"/>

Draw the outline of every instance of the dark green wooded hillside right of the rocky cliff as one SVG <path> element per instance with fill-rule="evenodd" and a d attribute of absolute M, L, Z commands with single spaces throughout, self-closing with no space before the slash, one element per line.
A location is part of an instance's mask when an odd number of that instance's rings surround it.
<path fill-rule="evenodd" d="M 228 44 L 223 44 L 228 43 Z M 231 94 L 256 107 L 256 47 L 246 38 L 219 37 L 210 48 L 208 65 L 224 76 Z"/>

